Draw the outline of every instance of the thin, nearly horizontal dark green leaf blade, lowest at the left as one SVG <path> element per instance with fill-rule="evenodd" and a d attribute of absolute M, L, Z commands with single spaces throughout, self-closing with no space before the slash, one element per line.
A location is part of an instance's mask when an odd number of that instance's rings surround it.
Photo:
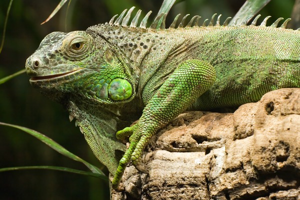
<path fill-rule="evenodd" d="M 51 170 L 65 171 L 65 172 L 70 172 L 70 173 L 77 173 L 77 174 L 81 174 L 81 175 L 89 175 L 92 177 L 97 177 L 97 178 L 101 178 L 105 181 L 108 181 L 108 177 L 106 175 L 88 172 L 88 171 L 82 171 L 82 170 L 63 167 L 63 166 L 14 166 L 14 167 L 0 168 L 0 172 L 11 171 L 11 170 L 23 170 L 23 169 L 51 169 Z"/>

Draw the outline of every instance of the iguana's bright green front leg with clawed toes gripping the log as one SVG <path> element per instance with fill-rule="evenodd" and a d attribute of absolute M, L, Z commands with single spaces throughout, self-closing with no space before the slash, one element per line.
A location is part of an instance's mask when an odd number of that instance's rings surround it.
<path fill-rule="evenodd" d="M 183 61 L 163 82 L 157 92 L 145 106 L 139 121 L 116 133 L 116 137 L 129 137 L 130 145 L 119 161 L 112 180 L 117 187 L 127 163 L 132 160 L 135 165 L 142 150 L 156 131 L 171 119 L 183 112 L 192 102 L 204 93 L 215 80 L 215 70 L 208 62 L 189 59 Z"/>

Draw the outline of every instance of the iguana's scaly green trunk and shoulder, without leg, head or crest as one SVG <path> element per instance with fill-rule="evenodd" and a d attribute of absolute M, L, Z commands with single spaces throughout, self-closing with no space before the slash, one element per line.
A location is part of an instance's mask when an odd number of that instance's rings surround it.
<path fill-rule="evenodd" d="M 257 101 L 267 91 L 300 87 L 300 31 L 276 23 L 169 29 L 99 24 L 87 31 L 118 46 L 140 71 L 144 104 L 186 59 L 207 61 L 216 71 L 214 84 L 189 108 L 193 110 L 237 106 Z"/>

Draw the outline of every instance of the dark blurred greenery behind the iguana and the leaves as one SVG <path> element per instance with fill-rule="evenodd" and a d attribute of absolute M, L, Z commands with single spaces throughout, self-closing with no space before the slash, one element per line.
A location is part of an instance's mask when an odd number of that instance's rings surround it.
<path fill-rule="evenodd" d="M 114 14 L 135 6 L 143 15 L 157 13 L 162 0 L 72 0 L 40 25 L 60 0 L 14 0 L 7 21 L 6 36 L 0 53 L 0 78 L 24 68 L 26 58 L 52 31 L 84 30 L 104 23 Z M 185 0 L 171 9 L 167 24 L 177 13 L 210 18 L 221 13 L 223 21 L 234 16 L 244 0 Z M 278 17 L 290 17 L 294 0 L 272 0 L 259 13 L 271 15 L 271 24 Z M 9 0 L 0 1 L 0 36 Z M 135 13 L 134 12 L 134 13 Z M 33 89 L 25 73 L 0 84 L 0 121 L 37 130 L 79 157 L 100 167 L 68 112 L 58 103 Z M 55 165 L 88 170 L 20 130 L 0 126 L 0 168 L 26 165 Z M 0 199 L 109 199 L 108 184 L 100 179 L 52 170 L 17 170 L 0 172 Z"/>

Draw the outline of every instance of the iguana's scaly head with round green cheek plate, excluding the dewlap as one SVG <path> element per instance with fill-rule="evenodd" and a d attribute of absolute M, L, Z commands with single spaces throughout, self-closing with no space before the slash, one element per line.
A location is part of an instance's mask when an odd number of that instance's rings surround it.
<path fill-rule="evenodd" d="M 123 103 L 135 94 L 129 68 L 99 35 L 86 31 L 52 32 L 26 60 L 32 86 L 72 93 L 99 103 Z"/>

